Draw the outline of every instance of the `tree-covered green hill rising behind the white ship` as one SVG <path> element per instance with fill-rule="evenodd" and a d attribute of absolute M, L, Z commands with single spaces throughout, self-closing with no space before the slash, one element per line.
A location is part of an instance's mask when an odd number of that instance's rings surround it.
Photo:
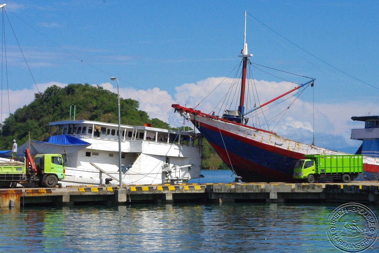
<path fill-rule="evenodd" d="M 47 137 L 56 133 L 56 128 L 50 128 L 49 122 L 68 120 L 70 105 L 76 105 L 77 120 L 118 122 L 117 94 L 89 84 L 68 84 L 63 88 L 53 85 L 44 93 L 35 94 L 33 102 L 17 109 L 4 120 L 0 135 L 0 150 L 11 149 L 13 139 L 16 139 L 19 145 L 27 142 L 29 133 L 30 139 L 45 141 Z M 147 113 L 138 110 L 138 107 L 139 103 L 136 100 L 120 99 L 121 123 L 125 125 L 152 123 L 157 128 L 172 129 L 162 120 L 150 119 Z M 203 143 L 202 167 L 227 168 L 205 139 Z"/>

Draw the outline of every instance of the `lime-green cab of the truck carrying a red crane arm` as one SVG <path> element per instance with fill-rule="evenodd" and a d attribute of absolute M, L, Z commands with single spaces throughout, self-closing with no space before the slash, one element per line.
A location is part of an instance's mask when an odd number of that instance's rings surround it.
<path fill-rule="evenodd" d="M 40 154 L 35 157 L 39 175 L 39 186 L 55 187 L 58 180 L 65 178 L 65 167 L 62 155 Z"/>

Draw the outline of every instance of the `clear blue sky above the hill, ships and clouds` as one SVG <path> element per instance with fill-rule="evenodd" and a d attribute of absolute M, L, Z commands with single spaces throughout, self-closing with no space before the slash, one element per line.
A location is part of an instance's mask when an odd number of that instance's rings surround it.
<path fill-rule="evenodd" d="M 216 79 L 208 78 L 225 77 L 239 63 L 237 55 L 243 47 L 245 10 L 308 52 L 379 87 L 376 81 L 379 3 L 376 1 L 24 0 L 5 3 L 9 20 L 41 89 L 52 82 L 61 86 L 88 82 L 113 89 L 114 84 L 111 86 L 108 83 L 110 75 L 114 75 L 173 100 L 200 101 L 203 94 L 194 94 L 192 97 L 183 95 L 191 96 L 191 91 L 183 91 L 188 86 L 185 84 L 200 87 L 199 82 L 208 80 L 208 83 L 204 83 L 215 85 Z M 57 47 L 19 18 L 103 72 L 86 63 L 83 63 L 83 72 L 79 59 Z M 350 117 L 368 113 L 379 90 L 313 58 L 249 15 L 246 32 L 249 53 L 254 54 L 250 58 L 252 62 L 317 79 L 314 88 L 315 107 L 320 119 L 324 116 L 333 131 L 324 129 L 328 124 L 320 122 L 315 124 L 315 131 L 321 135 L 331 134 L 342 138 L 346 143 L 341 146 L 357 146 L 357 143 L 349 142 L 346 136 L 351 127 L 360 128 L 362 124 L 351 122 Z M 21 90 L 33 92 L 33 80 L 23 63 L 8 20 L 5 20 L 5 36 L 9 89 L 12 94 Z M 298 83 L 306 81 L 271 70 L 268 72 Z M 255 80 L 282 81 L 257 69 L 254 69 L 253 75 Z M 140 100 L 141 109 L 148 111 L 150 117 L 160 117 L 174 125 L 179 122 L 178 119 L 157 112 L 171 113 L 169 105 L 173 101 L 167 100 L 164 102 L 167 105 L 162 106 L 162 97 L 144 94 L 124 81 L 120 81 L 125 92 L 123 96 L 130 95 Z M 262 85 L 265 85 L 264 82 Z M 268 99 L 279 95 L 276 89 L 267 87 L 262 90 L 266 90 Z M 144 101 L 139 97 L 143 95 L 149 96 L 150 100 Z M 301 98 L 304 103 L 309 102 L 312 92 L 304 92 Z M 4 108 L 6 100 L 3 97 Z M 14 103 L 13 107 L 22 105 Z M 371 114 L 379 113 L 378 110 L 379 107 L 374 108 Z M 8 111 L 8 108 L 4 111 Z M 12 111 L 14 108 L 11 108 Z M 309 110 L 304 114 L 308 113 Z M 296 114 L 290 116 L 303 122 L 310 120 L 298 115 L 303 114 L 301 110 Z M 304 125 L 291 127 L 309 131 L 309 127 Z M 284 130 L 283 133 L 296 139 L 299 136 L 296 136 L 295 130 L 292 134 Z M 341 132 L 345 132 L 345 136 L 340 136 Z M 326 145 L 333 147 L 332 143 Z"/>

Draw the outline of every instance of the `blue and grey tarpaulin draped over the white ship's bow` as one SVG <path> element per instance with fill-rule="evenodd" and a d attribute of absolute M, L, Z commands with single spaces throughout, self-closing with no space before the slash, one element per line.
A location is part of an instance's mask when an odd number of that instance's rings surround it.
<path fill-rule="evenodd" d="M 30 145 L 30 146 L 29 146 Z M 24 150 L 30 149 L 31 155 L 37 154 L 64 154 L 74 153 L 88 147 L 91 143 L 82 141 L 67 134 L 50 136 L 46 142 L 30 141 L 17 147 L 16 156 L 24 156 Z M 0 157 L 9 158 L 12 156 L 11 150 L 0 151 Z"/>

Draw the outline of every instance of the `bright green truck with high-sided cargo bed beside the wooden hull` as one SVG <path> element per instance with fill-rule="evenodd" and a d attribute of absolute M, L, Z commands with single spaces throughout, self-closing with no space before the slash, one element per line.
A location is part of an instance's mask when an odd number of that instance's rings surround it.
<path fill-rule="evenodd" d="M 333 180 L 349 183 L 351 178 L 363 172 L 363 155 L 304 155 L 296 162 L 294 179 Z"/>

